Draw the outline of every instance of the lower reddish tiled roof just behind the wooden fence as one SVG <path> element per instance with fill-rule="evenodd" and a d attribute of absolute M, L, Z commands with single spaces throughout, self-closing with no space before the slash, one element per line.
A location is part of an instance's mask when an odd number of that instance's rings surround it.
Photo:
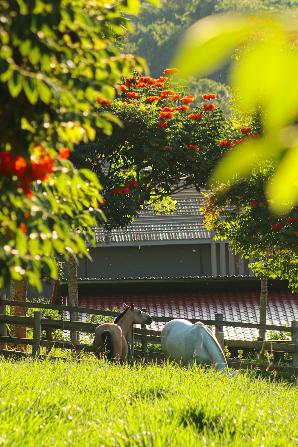
<path fill-rule="evenodd" d="M 216 313 L 223 320 L 257 323 L 259 321 L 259 292 L 222 293 L 171 293 L 171 294 L 123 294 L 123 295 L 80 295 L 79 306 L 84 308 L 122 310 L 124 302 L 134 302 L 138 308 L 146 308 L 153 316 L 171 318 L 191 318 L 195 320 L 214 320 Z M 80 315 L 88 320 L 88 315 Z M 290 290 L 270 291 L 267 301 L 267 324 L 291 325 L 298 320 L 298 293 Z M 153 322 L 149 328 L 161 330 L 164 323 Z M 252 340 L 258 336 L 256 329 L 224 327 L 224 337 L 231 340 Z"/>

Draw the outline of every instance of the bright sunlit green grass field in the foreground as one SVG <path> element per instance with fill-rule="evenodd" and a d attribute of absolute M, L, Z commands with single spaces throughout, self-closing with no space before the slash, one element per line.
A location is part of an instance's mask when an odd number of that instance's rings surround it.
<path fill-rule="evenodd" d="M 240 373 L 0 360 L 0 445 L 297 446 L 298 388 Z"/>

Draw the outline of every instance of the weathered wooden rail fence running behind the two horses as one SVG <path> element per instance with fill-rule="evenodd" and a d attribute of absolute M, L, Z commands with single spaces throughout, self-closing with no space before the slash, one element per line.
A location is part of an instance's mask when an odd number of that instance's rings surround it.
<path fill-rule="evenodd" d="M 83 333 L 94 333 L 95 328 L 98 326 L 97 323 L 83 323 L 76 321 L 76 313 L 86 313 L 92 315 L 101 316 L 111 316 L 115 318 L 120 312 L 103 311 L 97 309 L 89 308 L 77 308 L 74 303 L 70 306 L 64 305 L 53 305 L 53 304 L 42 304 L 42 303 L 23 303 L 20 301 L 10 301 L 5 300 L 5 296 L 0 294 L 0 355 L 4 357 L 8 356 L 32 356 L 33 358 L 43 357 L 40 354 L 40 347 L 46 348 L 46 354 L 49 354 L 53 348 L 60 349 L 71 349 L 75 350 L 76 353 L 80 351 L 92 352 L 92 346 L 76 342 L 76 332 Z M 41 311 L 34 311 L 33 317 L 24 316 L 10 316 L 6 315 L 6 306 L 19 306 L 26 308 L 38 308 L 38 309 L 54 309 L 58 311 L 68 311 L 70 312 L 70 320 L 54 320 L 50 317 L 41 318 Z M 146 309 L 142 309 L 146 311 Z M 162 316 L 152 316 L 155 322 L 167 322 L 173 318 L 162 317 Z M 189 319 L 191 322 L 196 322 L 197 320 Z M 221 314 L 215 315 L 214 320 L 201 320 L 202 323 L 206 325 L 215 326 L 215 336 L 222 346 L 223 350 L 225 346 L 229 350 L 246 350 L 253 351 L 256 350 L 258 353 L 265 353 L 266 351 L 272 354 L 278 354 L 281 356 L 284 353 L 290 353 L 292 356 L 291 365 L 280 365 L 275 361 L 269 360 L 268 363 L 252 363 L 239 360 L 237 358 L 228 358 L 227 363 L 229 367 L 234 368 L 248 368 L 248 369 L 262 369 L 262 370 L 275 370 L 290 372 L 293 374 L 294 380 L 298 377 L 298 322 L 296 320 L 292 321 L 292 325 L 289 327 L 277 326 L 277 325 L 257 325 L 252 323 L 244 322 L 234 322 L 234 321 L 224 321 Z M 33 338 L 17 338 L 9 337 L 6 332 L 6 325 L 21 325 L 27 328 L 33 328 Z M 242 327 L 242 328 L 253 328 L 253 329 L 266 329 L 271 331 L 281 331 L 290 332 L 290 341 L 268 341 L 264 342 L 262 339 L 256 341 L 245 341 L 245 340 L 226 340 L 223 337 L 223 327 Z M 65 340 L 53 340 L 52 331 L 53 329 L 63 329 L 70 331 L 70 342 Z M 41 337 L 41 331 L 45 330 L 46 337 Z M 154 331 L 147 329 L 145 325 L 141 328 L 131 327 L 127 333 L 126 340 L 128 342 L 128 359 L 130 364 L 134 361 L 154 361 L 161 362 L 165 360 L 164 354 L 159 352 L 148 350 L 148 343 L 154 345 L 160 345 L 160 331 Z M 141 349 L 135 349 L 135 342 L 141 344 Z M 32 354 L 25 354 L 20 351 L 7 350 L 7 343 L 15 343 L 22 345 L 32 346 Z M 58 357 L 57 357 L 58 358 Z"/>

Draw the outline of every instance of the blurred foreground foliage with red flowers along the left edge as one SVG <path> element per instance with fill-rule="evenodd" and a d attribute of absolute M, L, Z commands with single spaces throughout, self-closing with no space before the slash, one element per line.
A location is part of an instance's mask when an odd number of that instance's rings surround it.
<path fill-rule="evenodd" d="M 41 270 L 57 276 L 55 253 L 88 255 L 101 186 L 68 157 L 95 126 L 111 131 L 92 104 L 139 66 L 115 45 L 138 3 L 0 0 L 0 287 L 40 288 Z"/>

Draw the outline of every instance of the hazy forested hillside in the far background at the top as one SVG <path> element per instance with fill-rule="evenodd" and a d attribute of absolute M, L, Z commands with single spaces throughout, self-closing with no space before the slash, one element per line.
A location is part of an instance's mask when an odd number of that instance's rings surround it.
<path fill-rule="evenodd" d="M 291 8 L 294 12 L 298 9 L 298 0 L 159 0 L 159 3 L 161 8 L 147 2 L 142 4 L 139 16 L 131 17 L 134 34 L 125 41 L 125 52 L 146 59 L 150 75 L 157 78 L 170 66 L 184 31 L 203 17 L 231 10 L 247 11 L 249 17 L 258 11 L 261 14 L 269 10 L 273 14 L 279 10 Z M 222 81 L 223 78 L 224 75 Z M 219 97 L 223 99 L 219 102 L 225 106 L 228 95 L 218 81 L 218 73 L 210 73 L 203 82 L 188 80 L 188 84 L 197 97 L 207 90 L 221 93 Z"/>

